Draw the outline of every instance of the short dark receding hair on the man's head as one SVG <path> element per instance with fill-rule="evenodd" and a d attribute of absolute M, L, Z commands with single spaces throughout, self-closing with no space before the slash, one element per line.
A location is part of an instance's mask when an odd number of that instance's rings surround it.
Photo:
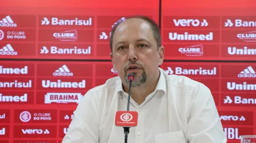
<path fill-rule="evenodd" d="M 125 18 L 125 19 L 122 18 L 121 20 L 118 20 L 118 21 L 114 24 L 114 26 L 113 26 L 113 28 L 112 28 L 112 30 L 111 30 L 111 35 L 110 35 L 110 48 L 111 48 L 111 53 L 112 53 L 112 49 L 113 49 L 112 44 L 113 44 L 113 35 L 114 35 L 115 30 L 117 29 L 117 27 L 118 27 L 119 24 L 121 24 L 123 21 L 125 21 L 125 20 L 127 20 L 127 19 L 131 19 L 131 18 L 143 19 L 143 20 L 147 21 L 147 22 L 150 24 L 150 26 L 151 26 L 151 28 L 152 28 L 152 30 L 153 30 L 153 34 L 154 34 L 154 38 L 155 38 L 156 43 L 157 43 L 157 50 L 158 50 L 159 47 L 161 46 L 161 33 L 160 33 L 160 29 L 159 29 L 157 23 L 156 23 L 154 20 L 150 19 L 149 17 L 138 15 L 138 16 L 130 16 L 130 17 L 127 17 L 127 18 Z"/>

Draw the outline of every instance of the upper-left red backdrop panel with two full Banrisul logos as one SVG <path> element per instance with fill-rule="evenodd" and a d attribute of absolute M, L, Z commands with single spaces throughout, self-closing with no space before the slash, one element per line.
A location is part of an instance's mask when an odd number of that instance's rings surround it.
<path fill-rule="evenodd" d="M 109 40 L 116 22 L 131 15 L 146 15 L 159 22 L 158 0 L 133 0 L 125 5 L 118 0 L 12 1 L 1 3 L 1 59 L 110 60 Z M 15 10 L 3 7 L 17 3 Z"/>

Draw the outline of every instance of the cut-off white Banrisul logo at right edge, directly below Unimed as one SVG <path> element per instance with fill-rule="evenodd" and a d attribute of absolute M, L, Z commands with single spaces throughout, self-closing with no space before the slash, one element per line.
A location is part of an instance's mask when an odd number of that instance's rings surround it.
<path fill-rule="evenodd" d="M 234 102 L 235 104 L 252 104 L 256 105 L 256 98 L 242 98 L 240 96 L 234 96 L 234 100 L 230 98 L 230 96 L 226 96 L 226 99 L 224 99 L 225 104 L 230 104 Z"/>

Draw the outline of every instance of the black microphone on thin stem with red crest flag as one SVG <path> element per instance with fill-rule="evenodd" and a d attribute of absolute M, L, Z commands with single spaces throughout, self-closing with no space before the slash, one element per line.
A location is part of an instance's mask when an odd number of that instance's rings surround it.
<path fill-rule="evenodd" d="M 124 129 L 124 142 L 127 143 L 127 137 L 130 132 L 130 127 L 137 126 L 138 123 L 138 112 L 129 111 L 130 110 L 130 98 L 131 98 L 131 88 L 132 82 L 134 80 L 134 74 L 130 73 L 128 75 L 128 80 L 130 81 L 127 111 L 117 111 L 115 113 L 115 126 L 122 126 Z"/>

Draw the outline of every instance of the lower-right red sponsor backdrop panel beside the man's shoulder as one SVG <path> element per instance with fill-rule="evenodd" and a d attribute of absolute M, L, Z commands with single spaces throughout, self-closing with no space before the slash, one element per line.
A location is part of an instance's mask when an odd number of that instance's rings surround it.
<path fill-rule="evenodd" d="M 230 142 L 256 133 L 256 63 L 165 61 L 161 68 L 210 88 Z"/>

